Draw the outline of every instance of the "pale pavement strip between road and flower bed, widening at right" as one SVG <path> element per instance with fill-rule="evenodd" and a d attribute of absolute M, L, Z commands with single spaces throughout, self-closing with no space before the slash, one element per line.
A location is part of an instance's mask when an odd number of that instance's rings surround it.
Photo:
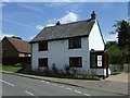
<path fill-rule="evenodd" d="M 116 93 L 121 95 L 130 95 L 128 90 L 128 87 L 130 86 L 128 76 L 130 75 L 128 73 L 112 75 L 108 78 L 101 79 L 101 81 L 46 77 L 46 76 L 20 74 L 20 73 L 6 72 L 6 71 L 2 71 L 2 73 L 18 75 L 18 76 L 24 76 L 29 78 L 36 78 L 36 79 L 43 79 L 43 81 L 53 82 L 53 83 L 67 84 L 67 85 L 73 85 L 77 87 L 79 86 L 84 88 L 91 88 L 95 90 L 103 90 L 103 91 Z"/>

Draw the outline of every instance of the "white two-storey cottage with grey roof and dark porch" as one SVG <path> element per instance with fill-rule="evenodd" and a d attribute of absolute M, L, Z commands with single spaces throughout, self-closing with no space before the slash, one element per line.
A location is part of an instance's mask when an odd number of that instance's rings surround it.
<path fill-rule="evenodd" d="M 31 41 L 31 70 L 67 64 L 107 77 L 108 53 L 93 11 L 90 20 L 44 27 Z"/>

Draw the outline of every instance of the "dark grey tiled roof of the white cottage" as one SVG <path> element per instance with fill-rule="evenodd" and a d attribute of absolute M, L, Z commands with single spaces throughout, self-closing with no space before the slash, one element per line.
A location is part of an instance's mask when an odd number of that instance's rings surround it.
<path fill-rule="evenodd" d="M 30 42 L 54 40 L 76 36 L 89 36 L 94 20 L 79 21 L 57 26 L 44 27 Z"/>

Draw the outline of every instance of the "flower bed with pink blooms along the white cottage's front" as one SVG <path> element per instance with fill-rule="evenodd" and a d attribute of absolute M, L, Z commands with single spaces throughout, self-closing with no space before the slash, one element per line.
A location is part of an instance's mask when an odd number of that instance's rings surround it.
<path fill-rule="evenodd" d="M 60 78 L 100 79 L 94 71 L 77 70 L 77 68 L 69 68 L 69 65 L 65 65 L 64 70 L 58 70 L 54 64 L 51 69 L 46 68 L 42 70 L 41 68 L 38 68 L 34 71 L 29 71 L 29 74 Z"/>

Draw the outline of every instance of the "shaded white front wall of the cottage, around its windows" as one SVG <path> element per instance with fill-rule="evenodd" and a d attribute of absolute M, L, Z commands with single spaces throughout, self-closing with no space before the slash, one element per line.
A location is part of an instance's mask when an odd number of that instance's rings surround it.
<path fill-rule="evenodd" d="M 69 57 L 82 57 L 83 70 L 89 69 L 89 46 L 88 38 L 81 38 L 81 48 L 68 49 L 68 39 L 55 40 L 48 42 L 48 51 L 38 51 L 38 44 L 32 44 L 32 69 L 38 68 L 39 58 L 48 58 L 48 64 L 52 68 L 55 63 L 56 68 L 64 69 L 64 65 L 69 65 Z"/>

